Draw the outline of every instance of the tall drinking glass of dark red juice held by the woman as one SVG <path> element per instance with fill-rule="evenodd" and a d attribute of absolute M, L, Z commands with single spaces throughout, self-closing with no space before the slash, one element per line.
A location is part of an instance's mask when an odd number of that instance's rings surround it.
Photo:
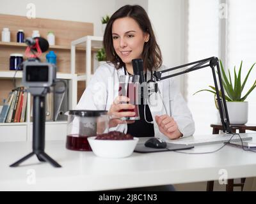
<path fill-rule="evenodd" d="M 140 113 L 139 113 L 139 88 L 140 88 L 140 76 L 139 75 L 122 75 L 120 76 L 119 80 L 119 89 L 118 95 L 119 96 L 126 96 L 130 99 L 129 102 L 122 102 L 122 103 L 130 103 L 135 106 L 132 110 L 121 110 L 122 112 L 135 112 L 135 115 L 132 117 L 124 117 L 123 120 L 140 120 Z"/>

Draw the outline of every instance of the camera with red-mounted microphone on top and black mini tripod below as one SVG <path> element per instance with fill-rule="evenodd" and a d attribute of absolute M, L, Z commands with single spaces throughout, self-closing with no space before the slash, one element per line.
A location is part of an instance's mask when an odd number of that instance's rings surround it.
<path fill-rule="evenodd" d="M 19 166 L 20 163 L 35 154 L 39 161 L 47 161 L 54 167 L 61 167 L 44 152 L 45 96 L 47 92 L 50 92 L 50 87 L 56 82 L 56 66 L 40 62 L 40 55 L 49 48 L 47 40 L 44 38 L 27 38 L 25 42 L 28 45 L 26 56 L 29 59 L 22 63 L 22 84 L 28 87 L 28 92 L 33 96 L 33 151 L 10 166 Z"/>

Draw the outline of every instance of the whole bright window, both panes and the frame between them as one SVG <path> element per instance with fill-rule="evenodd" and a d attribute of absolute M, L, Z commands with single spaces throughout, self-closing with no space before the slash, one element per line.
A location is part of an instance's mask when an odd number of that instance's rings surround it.
<path fill-rule="evenodd" d="M 243 60 L 242 80 L 252 64 L 256 62 L 256 1 L 253 0 L 189 0 L 186 6 L 188 21 L 187 62 L 211 56 L 221 59 L 225 68 L 239 68 Z M 227 13 L 223 13 L 227 12 Z M 227 15 L 226 15 L 227 14 Z M 255 82 L 256 67 L 253 69 L 243 95 Z M 195 119 L 195 135 L 212 133 L 210 124 L 219 121 L 210 92 L 193 93 L 214 85 L 211 71 L 207 68 L 186 75 L 185 93 L 188 106 Z M 249 101 L 248 123 L 256 121 L 256 90 Z"/>

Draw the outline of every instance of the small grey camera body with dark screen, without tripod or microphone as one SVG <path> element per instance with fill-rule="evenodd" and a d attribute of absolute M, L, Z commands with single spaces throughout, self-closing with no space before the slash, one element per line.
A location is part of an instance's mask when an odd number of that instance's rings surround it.
<path fill-rule="evenodd" d="M 28 60 L 23 63 L 22 84 L 26 87 L 51 87 L 56 81 L 56 66 Z"/>

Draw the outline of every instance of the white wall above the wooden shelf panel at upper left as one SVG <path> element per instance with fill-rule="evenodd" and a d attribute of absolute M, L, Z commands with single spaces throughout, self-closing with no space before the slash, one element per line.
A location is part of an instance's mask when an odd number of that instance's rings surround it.
<path fill-rule="evenodd" d="M 92 22 L 94 35 L 102 36 L 101 17 L 115 11 L 116 0 L 1 0 L 0 13 L 26 16 L 27 4 L 36 6 L 36 17 Z"/>

